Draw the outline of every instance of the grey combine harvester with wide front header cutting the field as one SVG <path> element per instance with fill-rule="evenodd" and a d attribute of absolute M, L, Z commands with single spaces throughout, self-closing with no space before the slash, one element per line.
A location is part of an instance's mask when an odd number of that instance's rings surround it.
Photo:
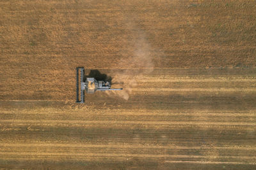
<path fill-rule="evenodd" d="M 79 81 L 80 70 L 80 81 Z M 84 103 L 84 90 L 86 93 L 92 94 L 99 91 L 109 90 L 122 90 L 122 89 L 110 89 L 111 84 L 109 81 L 97 81 L 95 78 L 86 78 L 84 81 L 84 67 L 76 68 L 76 103 Z M 79 95 L 80 92 L 80 95 Z M 80 97 L 80 100 L 79 100 Z"/>

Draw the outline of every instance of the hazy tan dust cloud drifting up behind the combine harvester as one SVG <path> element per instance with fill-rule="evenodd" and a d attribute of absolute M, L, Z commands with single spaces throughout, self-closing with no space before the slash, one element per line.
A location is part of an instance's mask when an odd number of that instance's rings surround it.
<path fill-rule="evenodd" d="M 111 91 L 110 93 L 128 100 L 132 88 L 138 86 L 136 78 L 151 73 L 154 70 L 154 63 L 152 61 L 152 47 L 143 31 L 134 32 L 132 39 L 124 49 L 125 53 L 120 53 L 123 59 L 118 62 L 120 69 L 111 73 L 113 86 L 122 85 L 123 90 Z"/>

